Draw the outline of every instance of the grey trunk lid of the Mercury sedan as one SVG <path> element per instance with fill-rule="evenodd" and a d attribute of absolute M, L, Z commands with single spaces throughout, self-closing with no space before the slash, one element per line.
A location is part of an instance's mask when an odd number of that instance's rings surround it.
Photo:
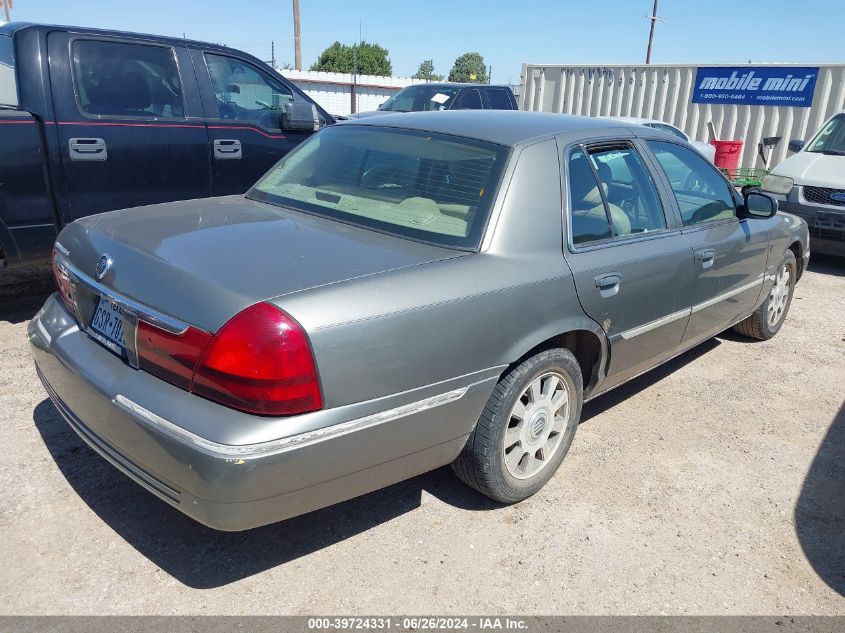
<path fill-rule="evenodd" d="M 106 255 L 97 283 L 209 332 L 259 301 L 465 254 L 243 196 L 91 216 L 59 243 L 83 275 Z"/>

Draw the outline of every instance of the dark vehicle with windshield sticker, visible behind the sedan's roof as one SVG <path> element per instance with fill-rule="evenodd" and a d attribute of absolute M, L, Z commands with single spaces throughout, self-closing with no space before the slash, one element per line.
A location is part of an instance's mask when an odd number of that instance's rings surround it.
<path fill-rule="evenodd" d="M 378 110 L 350 114 L 347 119 L 362 119 L 396 112 L 440 110 L 518 110 L 516 98 L 507 86 L 486 84 L 431 83 L 402 88 Z"/>

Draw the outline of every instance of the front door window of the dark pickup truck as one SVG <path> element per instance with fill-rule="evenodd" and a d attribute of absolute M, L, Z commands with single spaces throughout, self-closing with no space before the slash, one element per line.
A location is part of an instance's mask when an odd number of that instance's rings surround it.
<path fill-rule="evenodd" d="M 205 59 L 221 119 L 281 129 L 285 104 L 293 101 L 284 83 L 232 57 L 206 53 Z"/>

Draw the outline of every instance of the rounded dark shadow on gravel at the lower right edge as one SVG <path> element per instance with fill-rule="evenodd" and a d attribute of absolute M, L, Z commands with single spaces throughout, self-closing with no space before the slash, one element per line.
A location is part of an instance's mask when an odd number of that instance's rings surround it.
<path fill-rule="evenodd" d="M 845 403 L 804 479 L 795 531 L 816 573 L 845 596 Z"/>

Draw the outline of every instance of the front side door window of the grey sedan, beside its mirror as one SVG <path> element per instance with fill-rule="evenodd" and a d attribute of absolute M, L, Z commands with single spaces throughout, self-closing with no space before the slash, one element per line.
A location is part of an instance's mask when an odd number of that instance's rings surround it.
<path fill-rule="evenodd" d="M 731 187 L 697 152 L 663 141 L 648 141 L 666 172 L 678 201 L 684 225 L 736 216 Z"/>

